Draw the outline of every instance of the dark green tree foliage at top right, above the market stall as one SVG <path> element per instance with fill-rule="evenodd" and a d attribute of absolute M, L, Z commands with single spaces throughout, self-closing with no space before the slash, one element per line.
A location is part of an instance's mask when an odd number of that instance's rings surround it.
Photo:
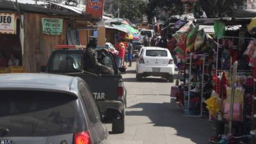
<path fill-rule="evenodd" d="M 243 6 L 246 0 L 198 0 L 193 3 L 192 12 L 198 16 L 204 10 L 208 18 L 226 17 L 232 13 L 234 5 Z M 184 14 L 184 3 L 181 0 L 149 0 L 147 7 L 148 20 L 154 16 L 161 18 L 161 13 L 170 15 Z M 197 17 L 196 17 L 197 18 Z"/>

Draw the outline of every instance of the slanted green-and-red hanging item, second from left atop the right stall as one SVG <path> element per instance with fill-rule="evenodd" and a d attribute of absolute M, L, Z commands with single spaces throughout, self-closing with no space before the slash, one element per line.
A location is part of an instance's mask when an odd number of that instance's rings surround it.
<path fill-rule="evenodd" d="M 188 36 L 187 36 L 187 40 L 186 40 L 186 51 L 188 52 L 194 52 L 195 51 L 195 39 L 196 39 L 196 35 L 198 33 L 199 30 L 199 25 L 196 25 L 195 28 L 191 29 L 191 31 L 189 31 Z"/>

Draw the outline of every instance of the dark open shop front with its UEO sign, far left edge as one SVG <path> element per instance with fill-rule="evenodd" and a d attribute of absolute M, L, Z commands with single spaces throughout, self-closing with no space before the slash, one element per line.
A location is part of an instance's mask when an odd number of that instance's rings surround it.
<path fill-rule="evenodd" d="M 0 73 L 23 72 L 17 13 L 0 13 Z"/>

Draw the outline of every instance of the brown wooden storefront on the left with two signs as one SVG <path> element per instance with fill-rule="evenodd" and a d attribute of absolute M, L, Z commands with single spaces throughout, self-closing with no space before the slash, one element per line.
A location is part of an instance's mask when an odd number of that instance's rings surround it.
<path fill-rule="evenodd" d="M 0 73 L 40 72 L 56 45 L 87 45 L 99 22 L 92 15 L 32 4 L 20 4 L 22 13 L 0 4 L 1 10 Z M 101 39 L 105 44 L 104 38 Z"/>

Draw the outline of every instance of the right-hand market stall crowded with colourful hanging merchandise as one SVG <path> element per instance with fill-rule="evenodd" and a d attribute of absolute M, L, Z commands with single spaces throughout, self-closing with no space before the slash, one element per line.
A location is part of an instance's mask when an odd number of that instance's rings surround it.
<path fill-rule="evenodd" d="M 251 19 L 215 20 L 213 24 L 219 22 L 223 24 L 218 28 L 222 30 L 215 29 L 217 38 L 191 22 L 173 35 L 178 41 L 177 67 L 184 77 L 183 83 L 172 87 L 171 96 L 183 106 L 185 116 L 205 117 L 214 124 L 211 143 L 252 143 L 256 135 L 256 41 L 251 34 L 256 24 L 250 31 L 245 26 Z"/>

